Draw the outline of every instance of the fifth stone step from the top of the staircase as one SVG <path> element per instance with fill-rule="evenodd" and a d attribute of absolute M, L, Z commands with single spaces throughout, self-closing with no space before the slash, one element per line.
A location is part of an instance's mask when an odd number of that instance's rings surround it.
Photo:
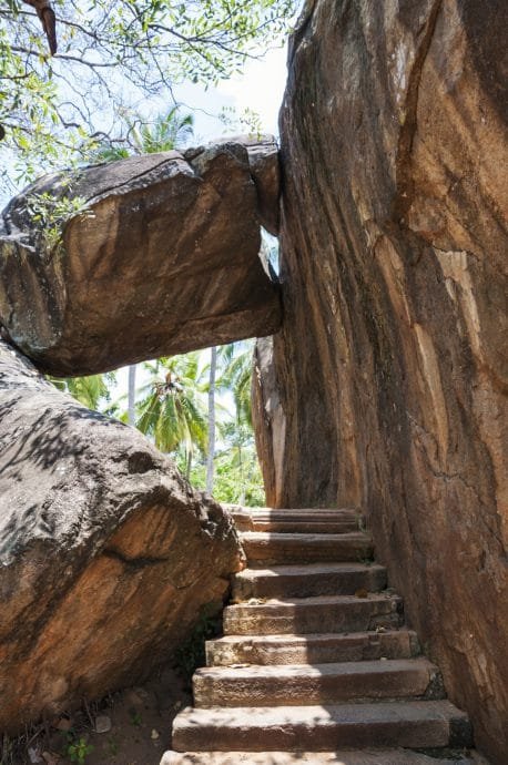
<path fill-rule="evenodd" d="M 373 659 L 410 659 L 420 653 L 416 632 L 386 630 L 350 634 L 226 635 L 206 643 L 209 666 L 231 664 L 326 664 Z"/>

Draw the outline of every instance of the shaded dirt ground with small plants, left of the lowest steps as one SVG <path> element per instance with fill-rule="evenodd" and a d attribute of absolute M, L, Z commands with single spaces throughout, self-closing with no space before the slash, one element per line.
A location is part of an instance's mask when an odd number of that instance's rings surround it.
<path fill-rule="evenodd" d="M 159 765 L 189 683 L 173 670 L 3 742 L 1 765 Z M 103 731 L 99 733 L 98 731 Z"/>

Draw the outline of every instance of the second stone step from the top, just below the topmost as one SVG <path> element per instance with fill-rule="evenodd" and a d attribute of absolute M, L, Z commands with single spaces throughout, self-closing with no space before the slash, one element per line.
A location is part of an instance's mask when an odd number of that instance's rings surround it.
<path fill-rule="evenodd" d="M 284 563 L 372 560 L 370 536 L 364 531 L 343 534 L 291 534 L 243 531 L 240 533 L 250 568 Z"/>

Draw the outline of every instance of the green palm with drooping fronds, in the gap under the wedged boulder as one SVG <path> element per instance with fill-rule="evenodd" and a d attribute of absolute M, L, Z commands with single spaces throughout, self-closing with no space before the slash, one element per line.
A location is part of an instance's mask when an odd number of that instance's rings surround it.
<path fill-rule="evenodd" d="M 200 354 L 160 358 L 144 364 L 151 380 L 138 404 L 138 428 L 162 451 L 183 446 L 186 476 L 196 449 L 207 446 L 207 424 Z"/>

